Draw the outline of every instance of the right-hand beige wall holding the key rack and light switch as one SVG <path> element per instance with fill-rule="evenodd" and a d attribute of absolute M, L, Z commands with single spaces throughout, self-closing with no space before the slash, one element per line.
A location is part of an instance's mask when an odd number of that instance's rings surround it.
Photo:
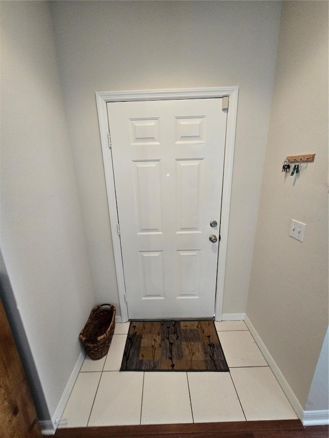
<path fill-rule="evenodd" d="M 298 176 L 281 173 L 309 153 Z M 247 316 L 303 409 L 328 327 L 327 182 L 328 2 L 285 2 Z M 291 219 L 306 222 L 303 243 Z"/>

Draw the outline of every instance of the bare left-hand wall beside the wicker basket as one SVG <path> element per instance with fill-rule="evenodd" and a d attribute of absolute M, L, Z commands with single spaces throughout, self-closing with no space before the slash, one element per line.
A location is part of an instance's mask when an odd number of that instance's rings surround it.
<path fill-rule="evenodd" d="M 0 6 L 1 247 L 52 416 L 81 351 L 93 285 L 49 4 Z"/>

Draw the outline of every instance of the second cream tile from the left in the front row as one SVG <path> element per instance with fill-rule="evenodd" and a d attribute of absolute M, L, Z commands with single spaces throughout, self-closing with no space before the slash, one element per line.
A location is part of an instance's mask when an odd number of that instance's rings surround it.
<path fill-rule="evenodd" d="M 103 372 L 88 426 L 140 423 L 142 372 Z"/>

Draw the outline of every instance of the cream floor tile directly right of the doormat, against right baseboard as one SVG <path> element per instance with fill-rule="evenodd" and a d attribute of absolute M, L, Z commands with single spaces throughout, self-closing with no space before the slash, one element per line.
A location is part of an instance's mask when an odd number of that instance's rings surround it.
<path fill-rule="evenodd" d="M 249 331 L 217 332 L 229 368 L 267 366 Z"/>

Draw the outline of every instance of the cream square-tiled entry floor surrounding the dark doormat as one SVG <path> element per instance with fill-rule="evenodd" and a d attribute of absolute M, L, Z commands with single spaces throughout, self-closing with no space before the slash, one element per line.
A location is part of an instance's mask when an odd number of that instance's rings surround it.
<path fill-rule="evenodd" d="M 245 323 L 215 325 L 229 373 L 120 373 L 129 322 L 117 323 L 107 356 L 85 358 L 60 427 L 296 419 Z"/>

